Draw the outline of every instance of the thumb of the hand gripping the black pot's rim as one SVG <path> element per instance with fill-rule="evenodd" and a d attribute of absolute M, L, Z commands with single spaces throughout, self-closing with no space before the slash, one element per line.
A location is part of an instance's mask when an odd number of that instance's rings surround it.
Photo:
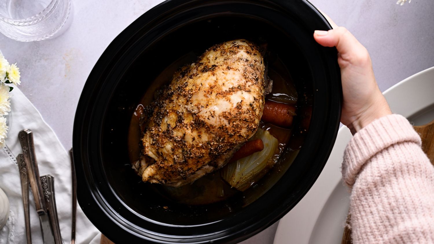
<path fill-rule="evenodd" d="M 365 51 L 365 47 L 345 27 L 329 31 L 316 30 L 313 37 L 322 46 L 335 46 L 341 55 L 349 55 L 358 50 Z"/>

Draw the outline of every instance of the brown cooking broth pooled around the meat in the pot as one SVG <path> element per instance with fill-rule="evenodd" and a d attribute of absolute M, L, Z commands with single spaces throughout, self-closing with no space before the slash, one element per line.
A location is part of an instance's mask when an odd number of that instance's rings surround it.
<path fill-rule="evenodd" d="M 160 75 L 158 75 L 158 77 L 152 82 L 150 88 L 146 91 L 145 95 L 141 98 L 135 113 L 132 115 L 128 131 L 128 154 L 131 163 L 134 163 L 139 159 L 141 131 L 138 123 L 138 117 L 140 117 L 140 111 L 143 111 L 143 107 L 148 106 L 152 100 L 156 98 L 158 91 L 171 81 L 172 75 L 176 70 L 178 70 L 178 68 L 185 64 L 196 61 L 197 56 L 198 55 L 194 54 L 193 52 L 189 52 L 180 59 L 173 62 L 171 65 L 165 68 Z M 269 60 L 268 76 L 273 80 L 273 90 L 266 96 L 266 100 L 268 99 L 271 101 L 294 105 L 297 107 L 296 112 L 298 113 L 298 94 L 293 84 L 291 75 L 277 55 L 270 56 L 271 58 Z M 299 141 L 300 145 L 302 140 L 304 140 L 304 136 L 300 137 L 299 135 L 299 121 L 300 119 L 295 119 L 291 129 L 277 127 L 270 123 L 263 123 L 262 121 L 260 122 L 259 127 L 263 130 L 268 130 L 270 134 L 276 137 L 276 139 L 279 141 L 278 150 L 276 150 L 276 154 L 273 156 L 273 158 L 275 158 L 274 163 L 276 165 L 279 164 L 278 159 L 280 154 L 286 150 L 288 143 L 291 144 L 290 140 L 293 134 L 295 134 L 295 137 Z M 298 143 L 296 144 L 298 145 Z M 291 146 L 291 148 L 289 148 L 289 150 L 293 151 L 298 149 L 299 147 L 297 146 Z M 273 168 L 275 169 L 273 170 Z M 270 173 L 273 173 L 273 171 L 279 169 L 279 167 L 273 167 L 273 165 L 270 165 L 263 170 L 261 175 L 266 175 L 269 170 Z M 135 173 L 134 170 L 131 171 L 132 173 Z M 243 202 L 244 205 L 247 205 L 260 197 L 251 196 L 248 192 L 240 192 L 237 189 L 232 188 L 220 177 L 219 171 L 220 170 L 217 170 L 216 172 L 203 176 L 191 184 L 187 184 L 179 188 L 172 188 L 160 184 L 152 184 L 152 188 L 164 198 L 168 198 L 171 201 L 185 205 L 206 205 L 215 202 L 221 202 L 233 196 L 245 198 Z M 256 183 L 257 182 L 252 182 L 251 187 L 255 187 Z M 269 188 L 271 185 L 267 185 L 266 187 Z"/>

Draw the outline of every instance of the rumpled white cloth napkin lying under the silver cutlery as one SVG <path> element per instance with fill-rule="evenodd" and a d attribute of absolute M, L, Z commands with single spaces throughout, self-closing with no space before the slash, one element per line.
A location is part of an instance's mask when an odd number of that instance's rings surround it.
<path fill-rule="evenodd" d="M 6 193 L 10 202 L 10 217 L 6 226 L 0 230 L 0 244 L 26 243 L 26 229 L 24 225 L 24 208 L 21 195 L 20 174 L 16 163 L 16 156 L 22 153 L 18 132 L 23 129 L 33 131 L 36 159 L 39 175 L 54 176 L 57 214 L 60 232 L 64 243 L 71 240 L 71 164 L 69 153 L 63 148 L 53 130 L 45 123 L 33 104 L 18 89 L 10 93 L 12 124 L 7 134 L 6 147 L 0 150 L 0 188 Z M 33 194 L 30 191 L 30 224 L 32 242 L 43 243 L 39 218 L 36 214 Z M 77 205 L 76 243 L 99 244 L 100 232 L 84 215 Z"/>

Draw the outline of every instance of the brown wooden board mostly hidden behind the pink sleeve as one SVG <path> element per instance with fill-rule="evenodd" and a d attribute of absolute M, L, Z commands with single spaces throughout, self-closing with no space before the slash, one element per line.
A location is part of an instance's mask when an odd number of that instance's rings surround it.
<path fill-rule="evenodd" d="M 414 130 L 421 136 L 422 139 L 422 150 L 427 154 L 431 163 L 434 165 L 434 120 L 428 124 L 421 126 L 414 126 Z M 347 225 L 351 216 L 347 217 Z M 351 230 L 348 227 L 345 227 L 344 234 L 342 236 L 341 244 L 351 244 Z"/>

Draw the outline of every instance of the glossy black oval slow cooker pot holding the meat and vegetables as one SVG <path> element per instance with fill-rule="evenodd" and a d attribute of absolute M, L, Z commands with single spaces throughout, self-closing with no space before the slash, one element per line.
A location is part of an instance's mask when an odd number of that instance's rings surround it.
<path fill-rule="evenodd" d="M 316 29 L 331 26 L 306 0 L 167 0 L 135 20 L 95 64 L 77 107 L 73 149 L 85 215 L 115 243 L 167 244 L 237 243 L 282 218 L 319 176 L 339 128 L 337 52 L 315 42 Z M 171 202 L 131 169 L 126 141 L 132 113 L 169 64 L 237 38 L 266 42 L 288 68 L 299 97 L 311 103 L 301 150 L 295 160 L 293 152 L 283 152 L 279 167 L 243 195 L 247 203 Z"/>

